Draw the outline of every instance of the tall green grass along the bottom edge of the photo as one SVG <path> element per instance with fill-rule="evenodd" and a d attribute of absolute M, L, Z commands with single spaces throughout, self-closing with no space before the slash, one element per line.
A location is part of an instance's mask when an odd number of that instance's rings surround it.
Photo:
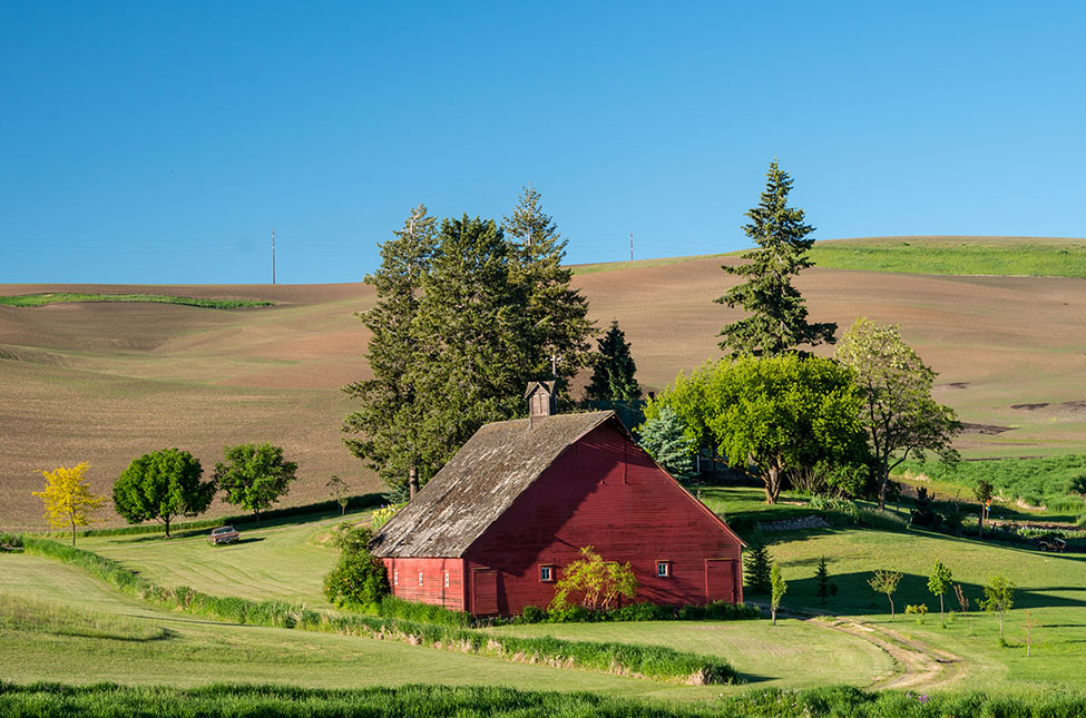
<path fill-rule="evenodd" d="M 648 704 L 588 692 L 528 691 L 497 686 L 399 686 L 351 690 L 286 686 L 18 686 L 0 681 L 0 715 L 9 718 L 147 716 L 603 716 L 702 718 L 707 716 L 851 716 L 854 718 L 1073 718 L 1086 714 L 1086 694 L 1046 690 L 1023 695 L 926 695 L 867 691 L 847 686 L 805 690 L 760 689 L 694 706 Z"/>

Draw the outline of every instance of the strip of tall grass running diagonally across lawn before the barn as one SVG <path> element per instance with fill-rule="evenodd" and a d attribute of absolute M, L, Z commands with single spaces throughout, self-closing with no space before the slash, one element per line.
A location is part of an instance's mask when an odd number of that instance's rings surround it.
<path fill-rule="evenodd" d="M 130 596 L 159 607 L 182 609 L 223 621 L 397 640 L 521 662 L 576 666 L 687 683 L 723 683 L 735 680 L 734 670 L 724 659 L 658 646 L 495 636 L 459 626 L 421 623 L 389 617 L 330 614 L 284 601 L 208 596 L 187 587 L 169 589 L 157 586 L 128 571 L 117 561 L 49 539 L 23 537 L 23 543 L 31 553 L 84 568 Z"/>

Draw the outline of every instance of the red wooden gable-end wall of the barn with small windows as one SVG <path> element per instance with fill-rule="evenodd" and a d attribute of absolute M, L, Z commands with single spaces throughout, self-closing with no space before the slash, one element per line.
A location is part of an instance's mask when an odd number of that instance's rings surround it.
<path fill-rule="evenodd" d="M 743 600 L 738 541 L 610 423 L 570 446 L 491 524 L 464 570 L 497 571 L 497 611 L 520 613 L 554 597 L 539 567 L 554 564 L 560 577 L 588 544 L 630 563 L 639 601 Z M 669 562 L 671 576 L 657 577 L 657 561 Z"/>

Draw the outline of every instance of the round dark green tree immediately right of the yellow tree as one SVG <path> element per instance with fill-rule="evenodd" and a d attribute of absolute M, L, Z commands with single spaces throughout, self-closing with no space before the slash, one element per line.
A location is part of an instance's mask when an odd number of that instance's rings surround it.
<path fill-rule="evenodd" d="M 176 517 L 207 511 L 215 482 L 199 479 L 204 470 L 190 453 L 162 449 L 133 460 L 114 483 L 114 506 L 128 523 L 155 519 L 166 527 Z"/>

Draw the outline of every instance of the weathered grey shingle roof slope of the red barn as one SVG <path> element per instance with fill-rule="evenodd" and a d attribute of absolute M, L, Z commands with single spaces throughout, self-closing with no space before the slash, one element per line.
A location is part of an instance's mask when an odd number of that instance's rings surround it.
<path fill-rule="evenodd" d="M 557 414 L 487 424 L 373 537 L 376 555 L 462 557 L 578 439 L 614 412 Z M 617 422 L 617 419 L 615 420 Z"/>

